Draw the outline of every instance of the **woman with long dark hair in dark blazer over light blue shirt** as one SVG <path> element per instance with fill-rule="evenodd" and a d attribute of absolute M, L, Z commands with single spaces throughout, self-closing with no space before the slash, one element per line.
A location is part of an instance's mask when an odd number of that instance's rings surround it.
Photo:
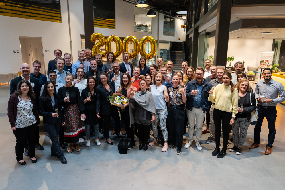
<path fill-rule="evenodd" d="M 52 147 L 50 148 L 51 156 L 60 158 L 62 164 L 67 161 L 58 144 L 58 133 L 60 125 L 64 125 L 64 117 L 61 112 L 60 102 L 56 95 L 56 89 L 51 81 L 46 81 L 42 95 L 39 99 L 40 115 L 42 115 L 44 129 L 50 135 Z M 58 111 L 58 112 L 57 112 Z"/>

